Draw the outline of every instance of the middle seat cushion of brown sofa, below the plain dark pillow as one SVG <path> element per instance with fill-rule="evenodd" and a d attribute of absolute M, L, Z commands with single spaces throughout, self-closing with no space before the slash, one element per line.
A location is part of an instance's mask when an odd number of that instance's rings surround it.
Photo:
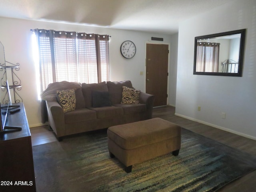
<path fill-rule="evenodd" d="M 111 107 L 98 107 L 90 108 L 97 112 L 97 118 L 116 118 L 124 114 L 124 111 L 121 107 L 111 106 Z"/>

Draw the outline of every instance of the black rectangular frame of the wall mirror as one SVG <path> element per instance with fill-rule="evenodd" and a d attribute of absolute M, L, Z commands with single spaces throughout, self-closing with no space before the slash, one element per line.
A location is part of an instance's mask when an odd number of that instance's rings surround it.
<path fill-rule="evenodd" d="M 240 48 L 239 48 L 239 65 L 237 73 L 222 73 L 222 72 L 196 72 L 196 54 L 197 54 L 197 40 L 206 39 L 206 38 L 214 38 L 220 36 L 241 34 L 240 38 Z M 195 37 L 195 46 L 194 46 L 194 75 L 215 75 L 215 76 L 237 76 L 242 77 L 242 68 L 243 68 L 243 60 L 244 60 L 244 45 L 245 45 L 245 34 L 246 29 L 228 31 L 204 36 Z"/>

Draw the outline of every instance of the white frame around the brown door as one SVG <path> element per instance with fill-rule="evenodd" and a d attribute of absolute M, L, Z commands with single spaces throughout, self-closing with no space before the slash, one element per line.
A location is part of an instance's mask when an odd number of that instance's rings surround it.
<path fill-rule="evenodd" d="M 164 42 L 152 42 L 152 41 L 146 41 L 145 43 L 145 64 L 144 64 L 144 90 L 146 93 L 146 68 L 147 68 L 147 44 L 164 44 L 164 45 L 168 45 L 168 77 L 167 77 L 167 94 L 168 97 L 166 98 L 166 105 L 169 105 L 169 76 L 170 76 L 170 43 L 164 43 Z M 157 106 L 160 107 L 160 106 Z"/>

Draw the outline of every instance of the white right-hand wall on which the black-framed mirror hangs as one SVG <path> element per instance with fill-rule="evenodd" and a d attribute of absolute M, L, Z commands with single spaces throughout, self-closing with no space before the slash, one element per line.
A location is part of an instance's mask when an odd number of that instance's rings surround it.
<path fill-rule="evenodd" d="M 244 28 L 247 31 L 242 77 L 193 75 L 195 36 Z M 232 1 L 182 22 L 178 37 L 176 114 L 256 140 L 255 52 L 255 0 Z M 226 119 L 221 118 L 222 112 Z"/>

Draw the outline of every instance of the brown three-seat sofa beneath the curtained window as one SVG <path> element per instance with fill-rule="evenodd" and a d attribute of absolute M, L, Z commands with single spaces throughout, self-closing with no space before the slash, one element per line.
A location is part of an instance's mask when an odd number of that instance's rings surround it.
<path fill-rule="evenodd" d="M 121 104 L 123 86 L 133 88 L 129 80 L 122 82 L 101 82 L 95 84 L 55 82 L 41 93 L 46 100 L 48 122 L 59 141 L 63 136 L 108 128 L 152 118 L 154 96 L 139 93 L 139 104 Z M 56 91 L 75 90 L 75 110 L 64 112 Z M 108 92 L 110 106 L 93 107 L 92 92 Z"/>

